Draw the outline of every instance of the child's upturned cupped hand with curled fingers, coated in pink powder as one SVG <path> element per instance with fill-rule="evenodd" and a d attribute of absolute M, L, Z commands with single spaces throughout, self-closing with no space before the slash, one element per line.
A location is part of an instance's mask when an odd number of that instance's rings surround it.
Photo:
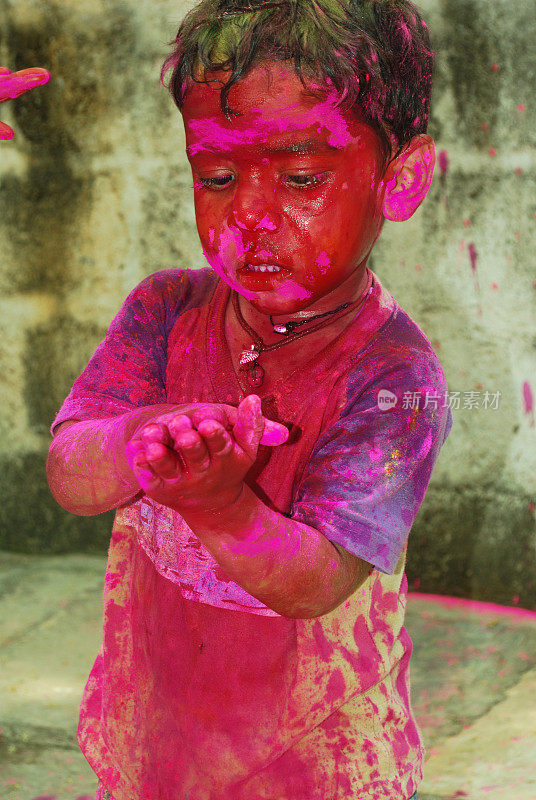
<path fill-rule="evenodd" d="M 240 494 L 259 444 L 283 444 L 288 430 L 265 420 L 257 395 L 238 409 L 205 403 L 196 416 L 190 408 L 191 415 L 166 414 L 165 421 L 145 423 L 127 443 L 127 460 L 145 494 L 158 503 L 179 512 L 218 510 Z"/>

